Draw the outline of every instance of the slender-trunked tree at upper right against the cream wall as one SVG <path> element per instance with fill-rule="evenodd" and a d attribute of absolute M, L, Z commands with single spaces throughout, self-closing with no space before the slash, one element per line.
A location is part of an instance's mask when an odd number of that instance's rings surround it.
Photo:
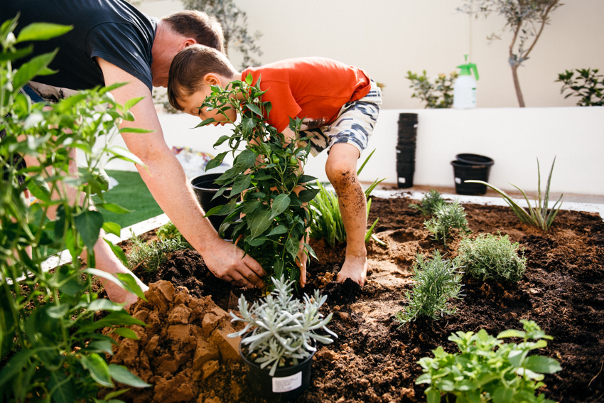
<path fill-rule="evenodd" d="M 509 67 L 512 68 L 514 90 L 521 108 L 524 108 L 524 97 L 518 80 L 518 68 L 529 59 L 543 29 L 549 24 L 551 13 L 562 5 L 560 0 L 465 0 L 465 4 L 458 8 L 458 11 L 476 18 L 480 15 L 487 18 L 491 13 L 505 18 L 505 26 L 501 31 L 512 32 L 512 43 L 509 44 L 507 60 Z M 487 39 L 493 41 L 501 39 L 501 36 L 492 33 Z"/>

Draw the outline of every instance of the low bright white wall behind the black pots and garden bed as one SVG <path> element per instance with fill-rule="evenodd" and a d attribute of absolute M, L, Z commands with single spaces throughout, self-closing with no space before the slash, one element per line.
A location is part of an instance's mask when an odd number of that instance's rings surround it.
<path fill-rule="evenodd" d="M 368 150 L 376 151 L 361 173 L 362 181 L 388 176 L 385 183 L 397 182 L 395 147 L 401 112 L 419 115 L 415 185 L 454 186 L 451 161 L 455 154 L 473 153 L 495 160 L 489 178 L 493 185 L 512 190 L 511 182 L 532 192 L 537 190 L 536 158 L 544 187 L 556 156 L 552 191 L 604 195 L 604 107 L 383 110 L 369 143 Z M 170 147 L 189 146 L 215 154 L 228 149 L 226 144 L 212 149 L 220 136 L 230 134 L 228 126 L 190 129 L 199 123 L 198 118 L 187 114 L 159 117 Z M 123 145 L 121 138 L 118 141 Z M 311 158 L 307 173 L 327 181 L 326 159 L 325 153 Z M 108 168 L 134 170 L 134 165 L 115 162 Z"/>

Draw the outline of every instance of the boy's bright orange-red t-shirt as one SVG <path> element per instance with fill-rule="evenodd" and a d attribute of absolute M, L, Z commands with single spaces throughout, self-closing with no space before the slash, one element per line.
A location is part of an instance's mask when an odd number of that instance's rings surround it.
<path fill-rule="evenodd" d="M 256 85 L 260 77 L 262 101 L 271 102 L 268 122 L 278 131 L 289 118 L 303 119 L 303 130 L 333 122 L 346 102 L 360 100 L 370 91 L 369 76 L 360 68 L 326 58 L 281 60 L 257 68 L 247 68 Z"/>

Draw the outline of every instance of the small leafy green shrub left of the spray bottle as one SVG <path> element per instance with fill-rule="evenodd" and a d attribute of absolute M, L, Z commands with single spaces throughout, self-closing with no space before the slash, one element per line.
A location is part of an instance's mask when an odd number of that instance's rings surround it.
<path fill-rule="evenodd" d="M 441 109 L 453 106 L 453 84 L 457 77 L 458 73 L 454 71 L 448 77 L 441 73 L 436 78 L 429 78 L 424 70 L 421 75 L 408 71 L 406 79 L 411 81 L 409 88 L 414 89 L 411 98 L 426 102 L 426 109 Z"/>

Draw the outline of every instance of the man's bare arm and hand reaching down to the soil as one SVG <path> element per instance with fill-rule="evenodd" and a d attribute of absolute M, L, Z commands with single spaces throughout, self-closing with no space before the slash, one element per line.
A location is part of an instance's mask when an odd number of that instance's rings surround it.
<path fill-rule="evenodd" d="M 182 166 L 163 139 L 149 87 L 106 60 L 97 58 L 97 63 L 103 71 L 105 85 L 129 82 L 112 91 L 117 102 L 124 104 L 131 98 L 145 97 L 131 109 L 136 120 L 125 122 L 122 127 L 139 127 L 153 132 L 124 133 L 122 138 L 129 151 L 141 158 L 146 165 L 146 169 L 139 165 L 136 165 L 136 169 L 163 212 L 186 240 L 200 252 L 207 268 L 217 277 L 234 281 L 240 286 L 264 286 L 260 276 L 266 276 L 266 272 L 258 262 L 249 255 L 242 259 L 243 251 L 222 240 L 210 220 L 203 218 L 203 210 Z"/>

